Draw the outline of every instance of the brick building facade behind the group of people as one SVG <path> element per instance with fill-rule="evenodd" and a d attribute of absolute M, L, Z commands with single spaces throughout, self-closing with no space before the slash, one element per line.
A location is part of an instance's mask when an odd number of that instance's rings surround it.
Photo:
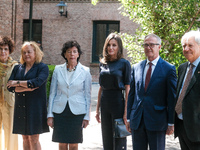
<path fill-rule="evenodd" d="M 55 65 L 64 63 L 60 55 L 63 43 L 77 40 L 84 52 L 80 62 L 90 67 L 93 82 L 98 82 L 98 60 L 94 53 L 103 44 L 102 38 L 105 40 L 112 28 L 118 32 L 134 34 L 138 25 L 120 14 L 120 3 L 116 0 L 100 0 L 96 6 L 89 0 L 65 0 L 67 18 L 58 13 L 56 5 L 59 2 L 60 0 L 33 0 L 33 33 L 35 40 L 42 42 L 45 54 L 43 62 Z M 12 57 L 16 60 L 19 60 L 20 47 L 27 37 L 28 19 L 29 0 L 0 1 L 0 35 L 14 39 L 16 51 Z M 97 35 L 102 36 L 101 42 Z M 102 49 L 101 47 L 98 51 Z"/>

